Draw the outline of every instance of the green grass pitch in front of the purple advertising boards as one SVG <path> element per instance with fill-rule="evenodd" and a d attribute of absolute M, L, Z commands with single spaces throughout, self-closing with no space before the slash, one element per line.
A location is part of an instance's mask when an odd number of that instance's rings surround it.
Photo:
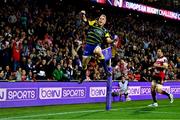
<path fill-rule="evenodd" d="M 110 111 L 105 103 L 57 105 L 0 109 L 1 119 L 178 119 L 180 120 L 180 99 L 173 104 L 159 100 L 158 107 L 147 107 L 151 100 L 115 102 Z"/>

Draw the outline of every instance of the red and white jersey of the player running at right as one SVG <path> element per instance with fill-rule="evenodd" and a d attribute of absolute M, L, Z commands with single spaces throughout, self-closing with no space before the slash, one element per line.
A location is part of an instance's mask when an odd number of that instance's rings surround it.
<path fill-rule="evenodd" d="M 158 64 L 160 66 L 163 66 L 164 63 L 168 64 L 168 60 L 166 57 L 160 57 L 156 60 L 155 64 Z M 160 72 L 164 72 L 165 73 L 165 69 L 163 68 L 159 68 L 159 67 L 155 67 L 155 73 L 160 73 Z"/>

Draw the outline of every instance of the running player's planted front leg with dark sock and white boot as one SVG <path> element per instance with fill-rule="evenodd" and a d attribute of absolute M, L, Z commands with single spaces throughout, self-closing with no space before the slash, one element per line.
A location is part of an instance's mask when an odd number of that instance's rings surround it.
<path fill-rule="evenodd" d="M 153 103 L 148 105 L 148 106 L 154 106 L 154 107 L 157 107 L 158 104 L 157 104 L 157 99 L 156 99 L 156 80 L 152 80 L 151 82 L 151 96 L 152 96 L 152 100 L 153 100 Z"/>

